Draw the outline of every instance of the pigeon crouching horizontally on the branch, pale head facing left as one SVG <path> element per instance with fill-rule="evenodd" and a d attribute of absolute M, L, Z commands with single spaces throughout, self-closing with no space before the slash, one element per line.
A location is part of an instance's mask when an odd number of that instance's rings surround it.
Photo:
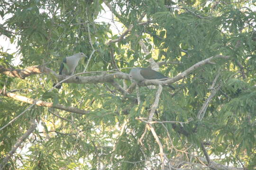
<path fill-rule="evenodd" d="M 157 72 L 151 68 L 132 68 L 129 77 L 137 83 L 143 80 L 168 78 L 167 76 L 164 76 L 162 73 Z M 175 88 L 172 85 L 168 86 L 175 90 Z"/>

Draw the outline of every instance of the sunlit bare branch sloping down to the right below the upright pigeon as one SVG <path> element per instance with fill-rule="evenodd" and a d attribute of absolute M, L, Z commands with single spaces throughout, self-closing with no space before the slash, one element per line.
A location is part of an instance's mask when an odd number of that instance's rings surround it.
<path fill-rule="evenodd" d="M 21 96 L 21 95 L 15 94 L 15 93 L 3 92 L 3 95 L 7 96 L 7 97 L 10 97 L 10 98 L 13 98 L 15 100 L 18 100 L 20 102 L 26 102 L 26 103 L 29 103 L 29 104 L 36 103 L 37 106 L 50 107 L 50 108 L 55 108 L 55 109 L 64 110 L 64 111 L 70 111 L 70 112 L 77 113 L 77 114 L 82 114 L 82 115 L 89 113 L 89 111 L 86 111 L 86 110 L 80 110 L 80 109 L 76 109 L 76 108 L 73 108 L 73 107 L 65 107 L 65 106 L 60 105 L 60 104 L 54 105 L 52 102 L 44 102 L 44 101 L 41 101 L 41 100 L 34 100 L 34 99 L 30 99 L 30 98 L 27 98 L 25 96 Z"/>

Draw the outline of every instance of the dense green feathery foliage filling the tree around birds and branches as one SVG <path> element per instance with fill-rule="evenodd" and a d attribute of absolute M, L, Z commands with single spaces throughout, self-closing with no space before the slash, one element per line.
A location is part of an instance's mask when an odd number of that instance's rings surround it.
<path fill-rule="evenodd" d="M 112 7 L 113 20 L 96 22 L 109 10 L 107 6 Z M 176 81 L 175 91 L 164 86 L 153 117 L 158 123 L 151 126 L 163 144 L 166 168 L 209 169 L 199 161 L 206 148 L 211 161 L 252 170 L 256 166 L 255 8 L 255 0 L 0 0 L 4 20 L 0 34 L 18 49 L 15 53 L 1 49 L 0 65 L 20 69 L 46 65 L 58 72 L 64 57 L 83 52 L 87 58 L 76 72 L 88 64 L 88 72 L 125 68 L 121 71 L 128 73 L 131 67 L 151 66 L 153 58 L 159 71 L 174 77 L 201 60 L 230 56 L 212 60 Z M 112 22 L 124 27 L 117 32 Z M 119 38 L 128 28 L 129 33 Z M 16 66 L 13 61 L 18 56 L 21 62 Z M 1 89 L 88 110 L 85 115 L 40 106 L 27 110 L 0 131 L 3 160 L 31 126 L 30 120 L 37 122 L 4 169 L 161 168 L 159 143 L 150 130 L 144 134 L 146 122 L 141 121 L 148 118 L 157 86 L 140 87 L 138 105 L 136 91 L 123 96 L 111 82 L 64 83 L 62 90 L 49 91 L 55 80 L 47 74 L 25 79 L 0 74 Z M 124 88 L 131 84 L 115 81 Z M 216 94 L 202 111 L 213 91 Z M 30 105 L 0 95 L 0 127 Z"/>

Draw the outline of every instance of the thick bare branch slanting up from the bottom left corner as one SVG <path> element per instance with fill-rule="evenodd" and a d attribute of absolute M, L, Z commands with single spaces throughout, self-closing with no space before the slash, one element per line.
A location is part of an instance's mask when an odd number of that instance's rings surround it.
<path fill-rule="evenodd" d="M 21 143 L 27 139 L 27 137 L 36 129 L 37 124 L 36 122 L 33 120 L 31 121 L 31 126 L 30 128 L 27 130 L 27 132 L 20 136 L 16 142 L 16 144 L 13 145 L 13 147 L 11 148 L 10 152 L 6 155 L 6 157 L 3 159 L 2 163 L 0 164 L 0 170 L 3 170 L 4 166 L 7 164 L 7 162 L 9 161 L 9 159 L 11 158 L 11 156 L 16 152 L 16 150 L 18 149 L 18 147 L 21 145 Z"/>

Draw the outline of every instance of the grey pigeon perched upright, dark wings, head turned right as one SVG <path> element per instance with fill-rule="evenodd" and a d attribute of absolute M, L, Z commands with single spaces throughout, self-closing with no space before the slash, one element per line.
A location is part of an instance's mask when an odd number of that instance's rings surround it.
<path fill-rule="evenodd" d="M 78 65 L 78 62 L 82 57 L 86 57 L 86 55 L 84 55 L 84 53 L 82 52 L 76 53 L 73 56 L 65 57 L 61 63 L 59 75 L 65 75 L 65 76 L 73 75 L 75 68 Z M 66 66 L 64 66 L 64 63 Z M 55 85 L 56 83 L 53 86 Z M 61 84 L 57 85 L 56 88 L 60 89 Z"/>

